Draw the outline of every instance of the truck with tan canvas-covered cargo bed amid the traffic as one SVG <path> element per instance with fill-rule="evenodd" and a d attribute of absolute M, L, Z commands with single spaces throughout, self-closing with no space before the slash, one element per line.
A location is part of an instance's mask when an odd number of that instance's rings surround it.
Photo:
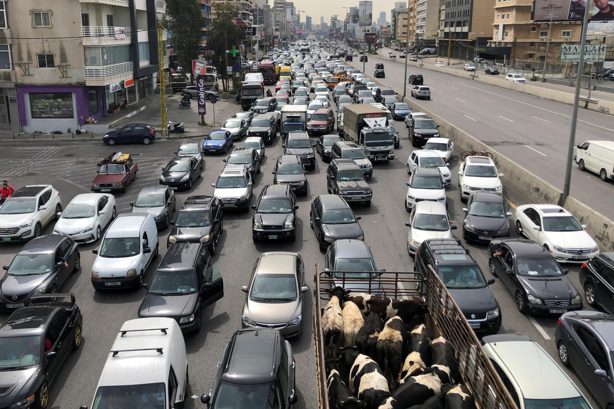
<path fill-rule="evenodd" d="M 371 104 L 346 105 L 343 132 L 346 139 L 365 150 L 371 161 L 391 161 L 394 159 L 394 136 L 387 120 L 387 113 Z"/>

